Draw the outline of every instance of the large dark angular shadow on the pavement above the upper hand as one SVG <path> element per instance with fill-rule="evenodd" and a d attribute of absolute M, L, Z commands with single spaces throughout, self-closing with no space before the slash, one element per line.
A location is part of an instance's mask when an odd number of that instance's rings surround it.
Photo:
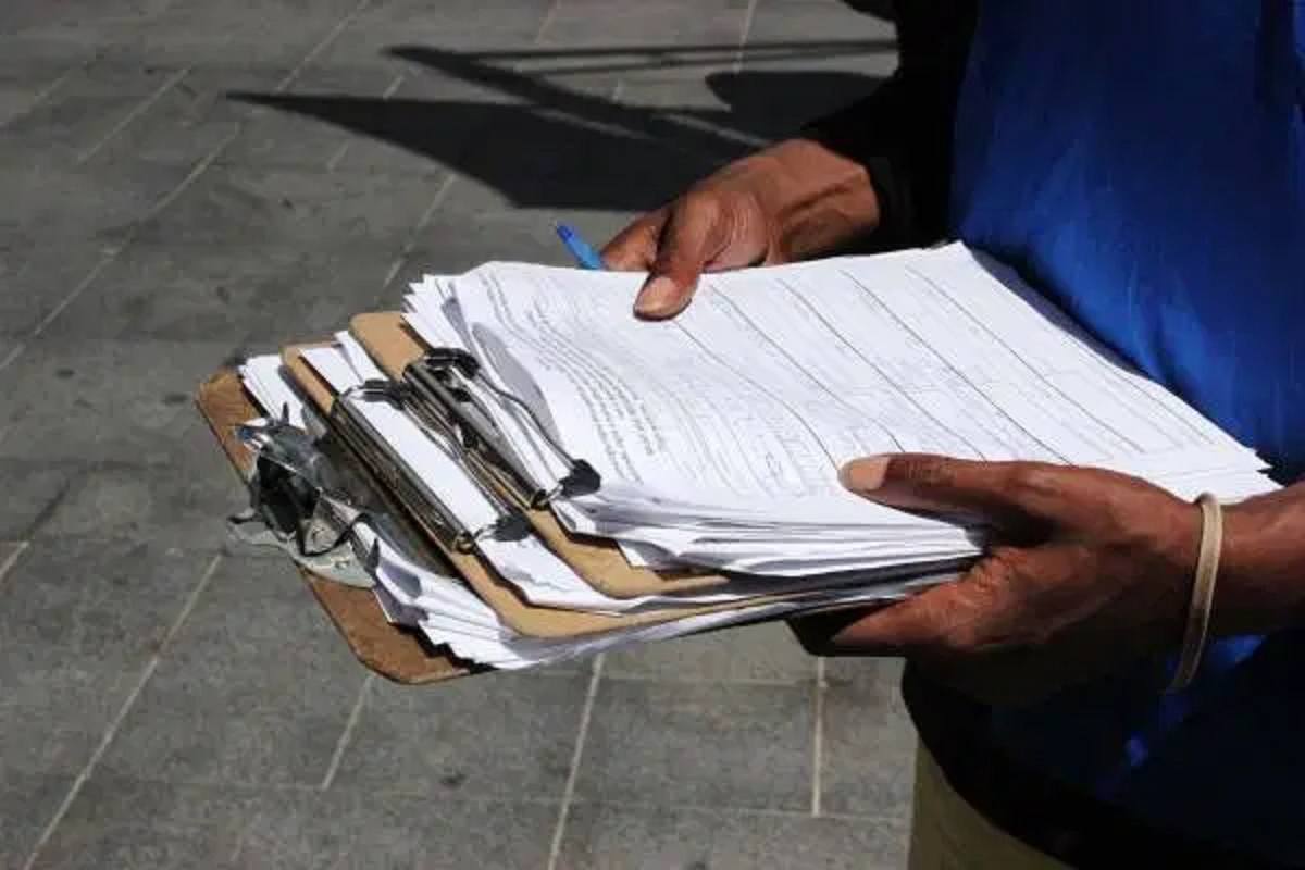
<path fill-rule="evenodd" d="M 425 47 L 390 53 L 491 86 L 508 99 L 247 91 L 228 97 L 403 147 L 493 188 L 517 207 L 638 211 L 865 94 L 877 81 L 837 72 L 713 72 L 706 83 L 723 108 L 650 108 L 576 91 L 545 74 L 487 64 L 474 55 Z"/>

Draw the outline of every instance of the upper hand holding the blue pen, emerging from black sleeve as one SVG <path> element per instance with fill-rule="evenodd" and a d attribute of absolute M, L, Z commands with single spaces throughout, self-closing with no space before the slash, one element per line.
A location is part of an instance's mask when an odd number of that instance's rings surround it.
<path fill-rule="evenodd" d="M 675 317 L 703 271 L 779 263 L 833 250 L 878 222 L 865 170 L 823 146 L 791 140 L 732 163 L 603 249 L 611 269 L 647 271 L 634 310 Z"/>

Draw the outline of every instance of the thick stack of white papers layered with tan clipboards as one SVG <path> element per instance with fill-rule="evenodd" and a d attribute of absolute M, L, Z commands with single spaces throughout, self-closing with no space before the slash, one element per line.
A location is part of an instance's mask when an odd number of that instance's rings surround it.
<path fill-rule="evenodd" d="M 891 601 L 980 554 L 983 530 L 847 493 L 838 468 L 863 455 L 1099 466 L 1185 498 L 1274 488 L 1250 449 L 960 245 L 710 275 L 669 322 L 630 314 L 641 280 L 428 277 L 406 333 L 356 318 L 243 367 L 269 415 L 348 417 L 448 531 L 432 560 L 352 527 L 393 621 L 515 668 Z"/>

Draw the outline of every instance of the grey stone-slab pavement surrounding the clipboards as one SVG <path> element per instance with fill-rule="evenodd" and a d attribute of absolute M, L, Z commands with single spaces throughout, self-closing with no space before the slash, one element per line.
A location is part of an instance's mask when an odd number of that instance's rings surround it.
<path fill-rule="evenodd" d="M 835 0 L 0 4 L 0 867 L 900 866 L 894 663 L 763 626 L 389 685 L 224 540 L 191 406 L 893 64 Z"/>

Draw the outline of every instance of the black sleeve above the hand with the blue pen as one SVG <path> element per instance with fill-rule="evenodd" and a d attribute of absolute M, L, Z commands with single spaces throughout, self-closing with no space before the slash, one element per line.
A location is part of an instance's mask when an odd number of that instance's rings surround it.
<path fill-rule="evenodd" d="M 861 163 L 880 202 L 874 248 L 932 244 L 947 228 L 957 94 L 977 0 L 900 0 L 898 69 L 804 134 Z"/>

